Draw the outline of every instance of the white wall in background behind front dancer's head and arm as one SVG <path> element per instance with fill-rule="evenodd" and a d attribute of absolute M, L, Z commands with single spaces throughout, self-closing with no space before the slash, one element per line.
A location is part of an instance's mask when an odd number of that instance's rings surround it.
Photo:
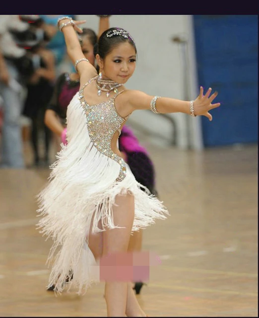
<path fill-rule="evenodd" d="M 99 18 L 95 15 L 77 15 L 86 20 L 85 25 L 98 30 Z M 173 43 L 175 35 L 188 39 L 188 56 L 190 65 L 190 99 L 196 92 L 196 69 L 192 16 L 190 15 L 113 15 L 110 17 L 111 27 L 122 27 L 133 37 L 137 48 L 137 65 L 135 73 L 127 82 L 129 89 L 142 90 L 150 95 L 185 99 L 183 75 L 183 56 L 179 44 Z M 198 118 L 177 113 L 170 114 L 177 121 L 177 146 L 188 147 L 187 125 L 190 122 L 192 148 L 201 149 L 200 123 Z M 189 118 L 190 117 L 190 118 Z M 137 123 L 146 131 L 156 131 L 164 139 L 172 139 L 172 124 L 153 114 L 151 111 L 135 111 L 129 124 Z"/>

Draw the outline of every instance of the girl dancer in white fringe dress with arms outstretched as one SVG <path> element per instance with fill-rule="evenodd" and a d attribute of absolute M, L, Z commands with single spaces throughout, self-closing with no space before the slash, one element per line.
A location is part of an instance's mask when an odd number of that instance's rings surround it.
<path fill-rule="evenodd" d="M 211 94 L 208 89 L 203 95 L 202 87 L 191 102 L 126 89 L 124 84 L 135 69 L 136 47 L 121 28 L 110 28 L 99 38 L 96 59 L 102 76 L 98 76 L 75 32 L 84 22 L 67 17 L 59 21 L 67 53 L 80 76 L 80 90 L 67 108 L 68 143 L 39 195 L 38 211 L 43 216 L 39 226 L 54 239 L 50 260 L 60 248 L 49 284 L 56 283 L 55 290 L 62 292 L 72 271 L 69 287 L 82 293 L 99 277 L 105 281 L 109 317 L 145 317 L 129 282 L 132 260 L 122 255 L 127 256 L 132 232 L 157 218 L 165 219 L 168 211 L 147 189 L 141 190 L 118 149 L 118 137 L 137 109 L 204 115 L 212 120 L 208 111 L 220 104 L 212 104 L 217 92 Z M 98 261 L 99 267 L 95 266 Z"/>

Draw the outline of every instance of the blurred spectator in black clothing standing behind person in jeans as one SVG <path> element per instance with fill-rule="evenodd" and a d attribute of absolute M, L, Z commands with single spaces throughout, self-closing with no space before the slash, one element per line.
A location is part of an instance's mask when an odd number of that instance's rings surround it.
<path fill-rule="evenodd" d="M 33 148 L 34 165 L 38 166 L 41 162 L 39 139 L 41 133 L 44 135 L 44 163 L 49 163 L 49 144 L 51 138 L 50 130 L 44 125 L 43 117 L 45 107 L 48 104 L 54 86 L 55 80 L 55 57 L 51 50 L 46 49 L 46 45 L 50 42 L 52 36 L 57 32 L 57 27 L 46 24 L 39 15 L 21 15 L 20 18 L 30 23 L 30 38 L 33 34 L 38 35 L 37 41 L 26 42 L 27 55 L 35 64 L 35 72 L 27 77 L 26 88 L 27 96 L 23 115 L 31 120 L 30 140 Z M 47 30 L 44 36 L 44 32 Z M 39 34 L 43 36 L 39 37 Z M 24 44 L 25 34 L 15 34 L 16 40 Z M 27 35 L 28 37 L 28 35 Z"/>

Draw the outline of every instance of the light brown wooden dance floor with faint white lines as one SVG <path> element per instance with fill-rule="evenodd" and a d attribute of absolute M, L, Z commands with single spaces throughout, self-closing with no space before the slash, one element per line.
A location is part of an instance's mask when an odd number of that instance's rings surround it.
<path fill-rule="evenodd" d="M 257 146 L 146 146 L 171 216 L 144 231 L 143 250 L 161 264 L 150 268 L 141 307 L 149 317 L 258 317 Z M 84 296 L 45 289 L 51 241 L 35 228 L 35 195 L 49 172 L 0 170 L 0 316 L 105 317 L 103 283 Z"/>

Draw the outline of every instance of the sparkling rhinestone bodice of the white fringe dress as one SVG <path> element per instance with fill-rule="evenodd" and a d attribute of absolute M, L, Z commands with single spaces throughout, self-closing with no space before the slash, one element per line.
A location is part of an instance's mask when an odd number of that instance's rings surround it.
<path fill-rule="evenodd" d="M 126 176 L 126 162 L 116 155 L 111 149 L 111 142 L 114 134 L 119 131 L 122 124 L 129 118 L 122 118 L 115 108 L 115 98 L 122 93 L 120 91 L 112 98 L 99 104 L 89 105 L 84 96 L 83 89 L 93 80 L 89 79 L 79 90 L 79 100 L 86 116 L 88 133 L 95 148 L 103 155 L 115 160 L 121 166 L 120 173 L 116 181 L 122 181 Z"/>

